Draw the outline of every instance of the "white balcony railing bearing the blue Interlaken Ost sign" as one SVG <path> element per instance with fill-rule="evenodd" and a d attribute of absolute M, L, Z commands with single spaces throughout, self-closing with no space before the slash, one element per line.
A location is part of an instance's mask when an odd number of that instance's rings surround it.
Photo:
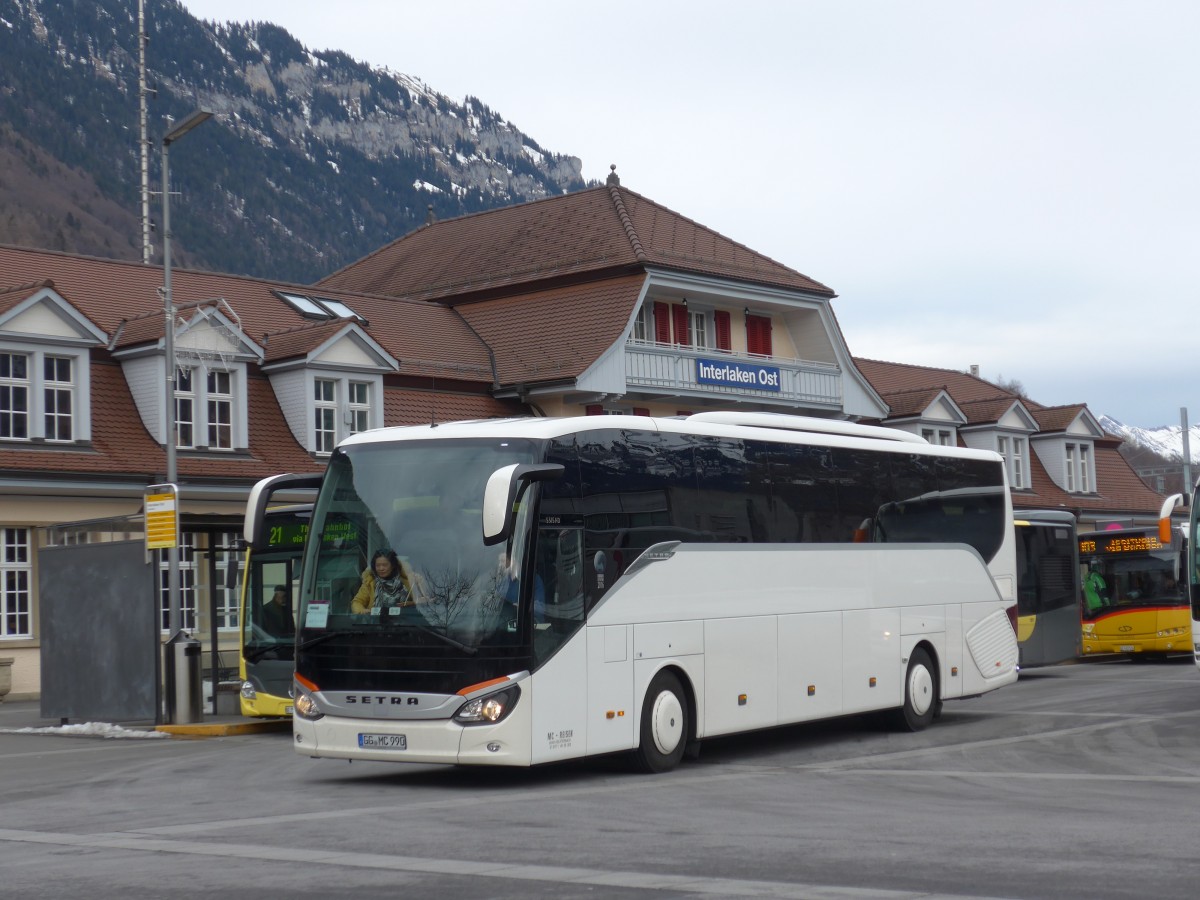
<path fill-rule="evenodd" d="M 709 376 L 715 371 L 718 377 L 701 380 L 697 361 L 706 364 Z M 737 384 L 725 383 L 738 377 L 744 380 Z M 625 384 L 629 389 L 749 396 L 822 407 L 840 407 L 842 401 L 841 368 L 832 362 L 642 341 L 629 341 L 625 344 Z M 763 384 L 767 386 L 761 386 Z"/>

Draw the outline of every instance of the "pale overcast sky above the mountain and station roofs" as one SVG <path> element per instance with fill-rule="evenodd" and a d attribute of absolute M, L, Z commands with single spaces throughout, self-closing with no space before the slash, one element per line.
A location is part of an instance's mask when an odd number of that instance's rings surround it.
<path fill-rule="evenodd" d="M 461 101 L 838 293 L 856 356 L 1200 418 L 1194 0 L 184 0 Z M 397 235 L 398 236 L 398 235 Z"/>

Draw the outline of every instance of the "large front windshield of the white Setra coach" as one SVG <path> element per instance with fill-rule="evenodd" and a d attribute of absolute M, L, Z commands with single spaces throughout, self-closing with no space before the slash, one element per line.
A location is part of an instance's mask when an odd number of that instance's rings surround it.
<path fill-rule="evenodd" d="M 344 643 L 474 655 L 521 640 L 529 522 L 484 546 L 488 476 L 530 462 L 530 440 L 420 440 L 336 451 L 313 512 L 299 647 Z M 386 648 L 386 649 L 385 649 Z"/>

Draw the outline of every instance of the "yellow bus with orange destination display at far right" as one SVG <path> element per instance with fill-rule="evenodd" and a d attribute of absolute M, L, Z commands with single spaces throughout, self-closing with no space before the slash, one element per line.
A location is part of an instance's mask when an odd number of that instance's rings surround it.
<path fill-rule="evenodd" d="M 1192 650 L 1186 540 L 1177 526 L 1079 535 L 1084 655 Z M 1166 539 L 1166 540 L 1164 540 Z"/>

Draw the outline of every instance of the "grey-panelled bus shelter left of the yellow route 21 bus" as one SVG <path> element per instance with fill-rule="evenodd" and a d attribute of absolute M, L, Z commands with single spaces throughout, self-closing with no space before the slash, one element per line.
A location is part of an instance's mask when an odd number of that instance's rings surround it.
<path fill-rule="evenodd" d="M 182 628 L 200 643 L 217 714 L 234 696 L 244 552 L 235 516 L 180 516 Z M 38 529 L 38 637 L 44 718 L 162 721 L 167 552 L 145 548 L 140 514 Z"/>

